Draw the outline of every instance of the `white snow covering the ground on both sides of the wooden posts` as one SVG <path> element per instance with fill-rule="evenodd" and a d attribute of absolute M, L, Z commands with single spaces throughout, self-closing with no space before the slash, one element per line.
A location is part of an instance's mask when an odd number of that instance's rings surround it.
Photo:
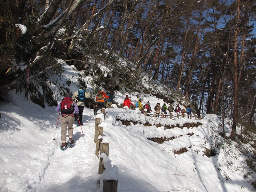
<path fill-rule="evenodd" d="M 65 65 L 68 79 L 77 71 Z M 76 75 L 75 75 L 76 76 Z M 73 81 L 75 81 L 73 79 Z M 76 84 L 70 90 L 77 90 Z M 57 92 L 57 90 L 56 90 Z M 134 94 L 135 95 L 135 94 Z M 131 96 L 132 102 L 138 98 Z M 116 100 L 125 95 L 116 92 Z M 95 118 L 101 118 L 103 142 L 109 142 L 109 158 L 118 167 L 118 192 L 246 192 L 255 191 L 244 178 L 248 167 L 233 142 L 224 142 L 221 119 L 213 114 L 194 118 L 154 118 L 138 109 L 106 109 L 106 116 L 94 116 L 84 108 L 83 125 L 74 124 L 76 146 L 61 151 L 60 122 L 55 108 L 43 109 L 15 93 L 10 103 L 0 103 L 0 191 L 1 192 L 100 192 L 102 178 L 95 155 Z M 63 97 L 59 97 L 61 101 Z M 144 96 L 153 108 L 164 102 Z M 120 120 L 130 121 L 123 125 Z M 147 122 L 152 126 L 144 126 Z M 190 127 L 188 123 L 201 123 Z M 161 124 L 162 126 L 156 126 Z M 165 129 L 164 125 L 174 125 Z M 230 121 L 225 126 L 231 131 Z M 84 136 L 82 135 L 84 132 Z M 239 130 L 238 130 L 239 131 Z M 172 138 L 158 144 L 148 138 Z M 53 140 L 53 139 L 56 140 Z M 206 148 L 218 146 L 216 156 L 203 156 Z M 174 152 L 186 148 L 182 154 Z M 255 176 L 255 175 L 254 175 Z M 249 178 L 248 178 L 249 179 Z"/>

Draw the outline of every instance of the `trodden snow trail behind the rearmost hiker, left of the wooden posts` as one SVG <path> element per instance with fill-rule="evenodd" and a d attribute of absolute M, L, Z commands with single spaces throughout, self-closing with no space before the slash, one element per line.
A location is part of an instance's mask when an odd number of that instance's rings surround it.
<path fill-rule="evenodd" d="M 36 191 L 95 192 L 99 188 L 99 161 L 95 155 L 94 126 L 94 119 L 85 121 L 82 125 L 83 136 L 81 127 L 74 124 L 73 138 L 76 146 L 65 151 L 59 148 L 60 128 L 58 128 L 56 151 L 50 158 Z"/>

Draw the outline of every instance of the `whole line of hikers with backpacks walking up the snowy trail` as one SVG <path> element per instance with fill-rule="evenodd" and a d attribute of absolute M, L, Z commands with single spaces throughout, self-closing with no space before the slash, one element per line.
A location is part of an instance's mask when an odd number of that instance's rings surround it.
<path fill-rule="evenodd" d="M 85 92 L 82 88 L 78 89 L 76 92 L 74 92 L 73 95 L 70 93 L 66 94 L 65 98 L 62 99 L 62 102 L 58 104 L 55 111 L 61 113 L 60 123 L 61 123 L 61 140 L 62 144 L 60 144 L 61 150 L 66 150 L 68 146 L 73 146 L 75 144 L 73 140 L 73 124 L 74 121 L 77 120 L 77 126 L 81 126 L 82 123 L 82 117 L 83 117 L 83 111 L 85 106 L 85 98 L 90 98 L 90 92 Z M 102 108 L 106 107 L 110 108 L 112 104 L 116 104 L 115 102 L 115 96 L 114 91 L 110 91 L 109 94 L 106 94 L 104 90 L 101 90 L 97 96 L 96 96 L 96 108 L 94 109 L 94 115 L 97 114 L 98 110 L 102 111 Z M 147 110 L 147 113 L 152 112 L 150 102 L 148 101 L 144 106 L 141 104 L 142 99 L 139 98 L 138 102 L 136 104 L 133 104 L 131 100 L 129 99 L 129 96 L 126 95 L 124 102 L 123 102 L 123 108 L 130 109 L 130 106 L 136 105 L 136 108 L 139 108 L 141 112 L 144 112 L 144 110 Z M 180 113 L 184 115 L 186 112 L 188 114 L 188 118 L 191 114 L 192 109 L 190 108 L 190 105 L 188 105 L 188 108 L 181 109 L 179 105 L 176 106 L 174 109 L 172 104 L 169 104 L 170 106 L 166 106 L 164 103 L 162 107 L 160 106 L 160 103 L 157 103 L 156 106 L 154 106 L 154 110 L 156 112 L 156 116 L 158 117 L 161 112 L 164 112 L 164 117 L 167 116 L 167 110 L 169 113 L 176 112 L 177 115 Z M 147 114 L 149 116 L 149 114 Z M 58 126 L 58 123 L 57 123 Z M 66 133 L 68 129 L 68 142 L 66 142 Z"/>

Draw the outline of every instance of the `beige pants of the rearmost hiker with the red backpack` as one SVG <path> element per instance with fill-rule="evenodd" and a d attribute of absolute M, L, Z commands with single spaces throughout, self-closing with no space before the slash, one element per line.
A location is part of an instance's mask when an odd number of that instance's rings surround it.
<path fill-rule="evenodd" d="M 60 117 L 60 123 L 61 123 L 61 141 L 62 143 L 66 142 L 66 134 L 67 134 L 67 128 L 68 128 L 68 135 L 69 138 L 73 137 L 73 124 L 74 124 L 75 118 L 72 116 L 67 117 Z"/>

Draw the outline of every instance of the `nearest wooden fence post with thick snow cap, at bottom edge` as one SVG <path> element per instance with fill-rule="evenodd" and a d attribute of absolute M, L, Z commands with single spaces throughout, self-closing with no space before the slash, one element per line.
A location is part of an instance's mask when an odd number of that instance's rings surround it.
<path fill-rule="evenodd" d="M 102 158 L 105 168 L 101 176 L 103 180 L 102 192 L 117 192 L 119 178 L 118 167 L 111 165 L 111 161 L 105 153 L 102 153 L 100 158 Z"/>

